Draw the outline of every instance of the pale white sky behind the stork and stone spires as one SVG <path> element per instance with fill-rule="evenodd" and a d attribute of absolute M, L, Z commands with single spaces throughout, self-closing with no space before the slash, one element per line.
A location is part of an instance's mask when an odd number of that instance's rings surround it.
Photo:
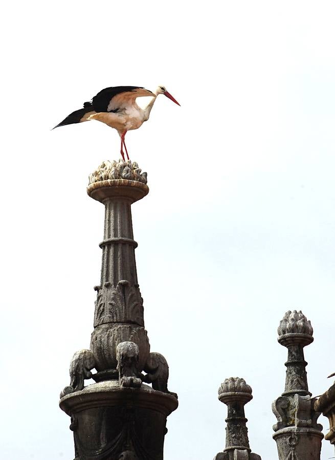
<path fill-rule="evenodd" d="M 90 343 L 103 234 L 85 188 L 119 156 L 117 132 L 99 122 L 50 128 L 106 86 L 159 84 L 181 107 L 160 96 L 127 147 L 150 188 L 133 206 L 146 328 L 180 401 L 165 458 L 224 448 L 217 388 L 230 376 L 253 388 L 253 451 L 277 458 L 285 311 L 302 309 L 315 329 L 311 392 L 335 371 L 334 16 L 320 0 L 3 7 L 3 458 L 74 457 L 58 395 Z M 322 459 L 332 455 L 324 442 Z"/>

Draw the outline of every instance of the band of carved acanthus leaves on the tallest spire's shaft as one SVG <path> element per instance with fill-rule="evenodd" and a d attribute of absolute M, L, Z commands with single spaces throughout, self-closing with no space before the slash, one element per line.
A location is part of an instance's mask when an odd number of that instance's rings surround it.
<path fill-rule="evenodd" d="M 94 327 L 107 323 L 136 323 L 144 326 L 143 299 L 138 285 L 119 281 L 115 287 L 106 282 L 98 287 Z"/>

